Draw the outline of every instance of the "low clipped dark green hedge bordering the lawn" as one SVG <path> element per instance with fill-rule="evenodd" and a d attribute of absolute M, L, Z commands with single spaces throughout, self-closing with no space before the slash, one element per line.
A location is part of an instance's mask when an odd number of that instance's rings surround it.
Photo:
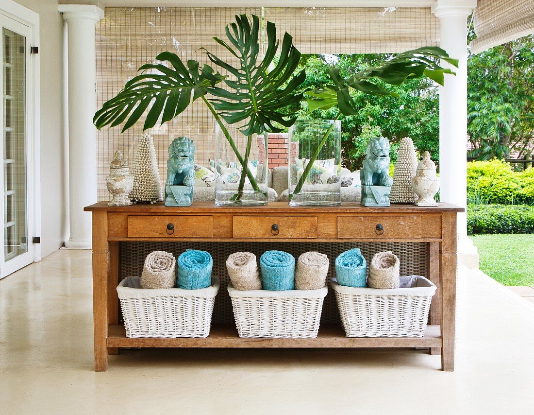
<path fill-rule="evenodd" d="M 534 207 L 526 205 L 468 205 L 467 233 L 534 233 Z"/>

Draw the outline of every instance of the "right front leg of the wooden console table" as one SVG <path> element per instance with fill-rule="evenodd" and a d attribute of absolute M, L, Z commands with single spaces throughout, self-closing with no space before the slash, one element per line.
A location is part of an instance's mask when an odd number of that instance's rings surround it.
<path fill-rule="evenodd" d="M 443 213 L 442 242 L 439 252 L 439 279 L 442 289 L 441 336 L 443 348 L 442 370 L 454 371 L 454 336 L 456 334 L 456 272 L 457 272 L 456 214 Z"/>

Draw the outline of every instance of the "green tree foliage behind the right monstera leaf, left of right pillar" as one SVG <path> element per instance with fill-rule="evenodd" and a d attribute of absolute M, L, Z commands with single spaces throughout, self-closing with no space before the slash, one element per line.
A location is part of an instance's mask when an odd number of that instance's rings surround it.
<path fill-rule="evenodd" d="M 300 65 L 306 70 L 302 88 L 315 88 L 329 81 L 328 69 L 340 68 L 350 76 L 365 67 L 376 65 L 394 55 L 303 55 Z M 377 82 L 380 85 L 380 82 Z M 383 85 L 382 85 L 383 86 Z M 392 162 L 400 139 L 410 136 L 420 152 L 428 150 L 434 159 L 439 151 L 439 99 L 434 82 L 419 78 L 388 88 L 398 98 L 355 94 L 356 116 L 341 116 L 343 166 L 356 170 L 362 166 L 368 135 L 380 131 L 392 143 Z M 309 112 L 302 102 L 293 109 L 301 118 L 332 119 L 336 110 Z"/>

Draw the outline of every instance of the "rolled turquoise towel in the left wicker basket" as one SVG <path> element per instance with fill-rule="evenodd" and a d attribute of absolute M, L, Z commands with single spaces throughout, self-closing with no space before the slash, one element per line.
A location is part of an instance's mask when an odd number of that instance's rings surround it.
<path fill-rule="evenodd" d="M 178 257 L 176 287 L 197 290 L 211 285 L 213 259 L 206 251 L 187 249 Z"/>

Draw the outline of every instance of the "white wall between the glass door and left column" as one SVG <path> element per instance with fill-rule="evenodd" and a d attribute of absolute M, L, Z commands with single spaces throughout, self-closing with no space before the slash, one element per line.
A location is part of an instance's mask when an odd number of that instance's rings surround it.
<path fill-rule="evenodd" d="M 67 235 L 67 166 L 64 109 L 64 28 L 58 0 L 15 0 L 40 16 L 41 256 Z"/>

